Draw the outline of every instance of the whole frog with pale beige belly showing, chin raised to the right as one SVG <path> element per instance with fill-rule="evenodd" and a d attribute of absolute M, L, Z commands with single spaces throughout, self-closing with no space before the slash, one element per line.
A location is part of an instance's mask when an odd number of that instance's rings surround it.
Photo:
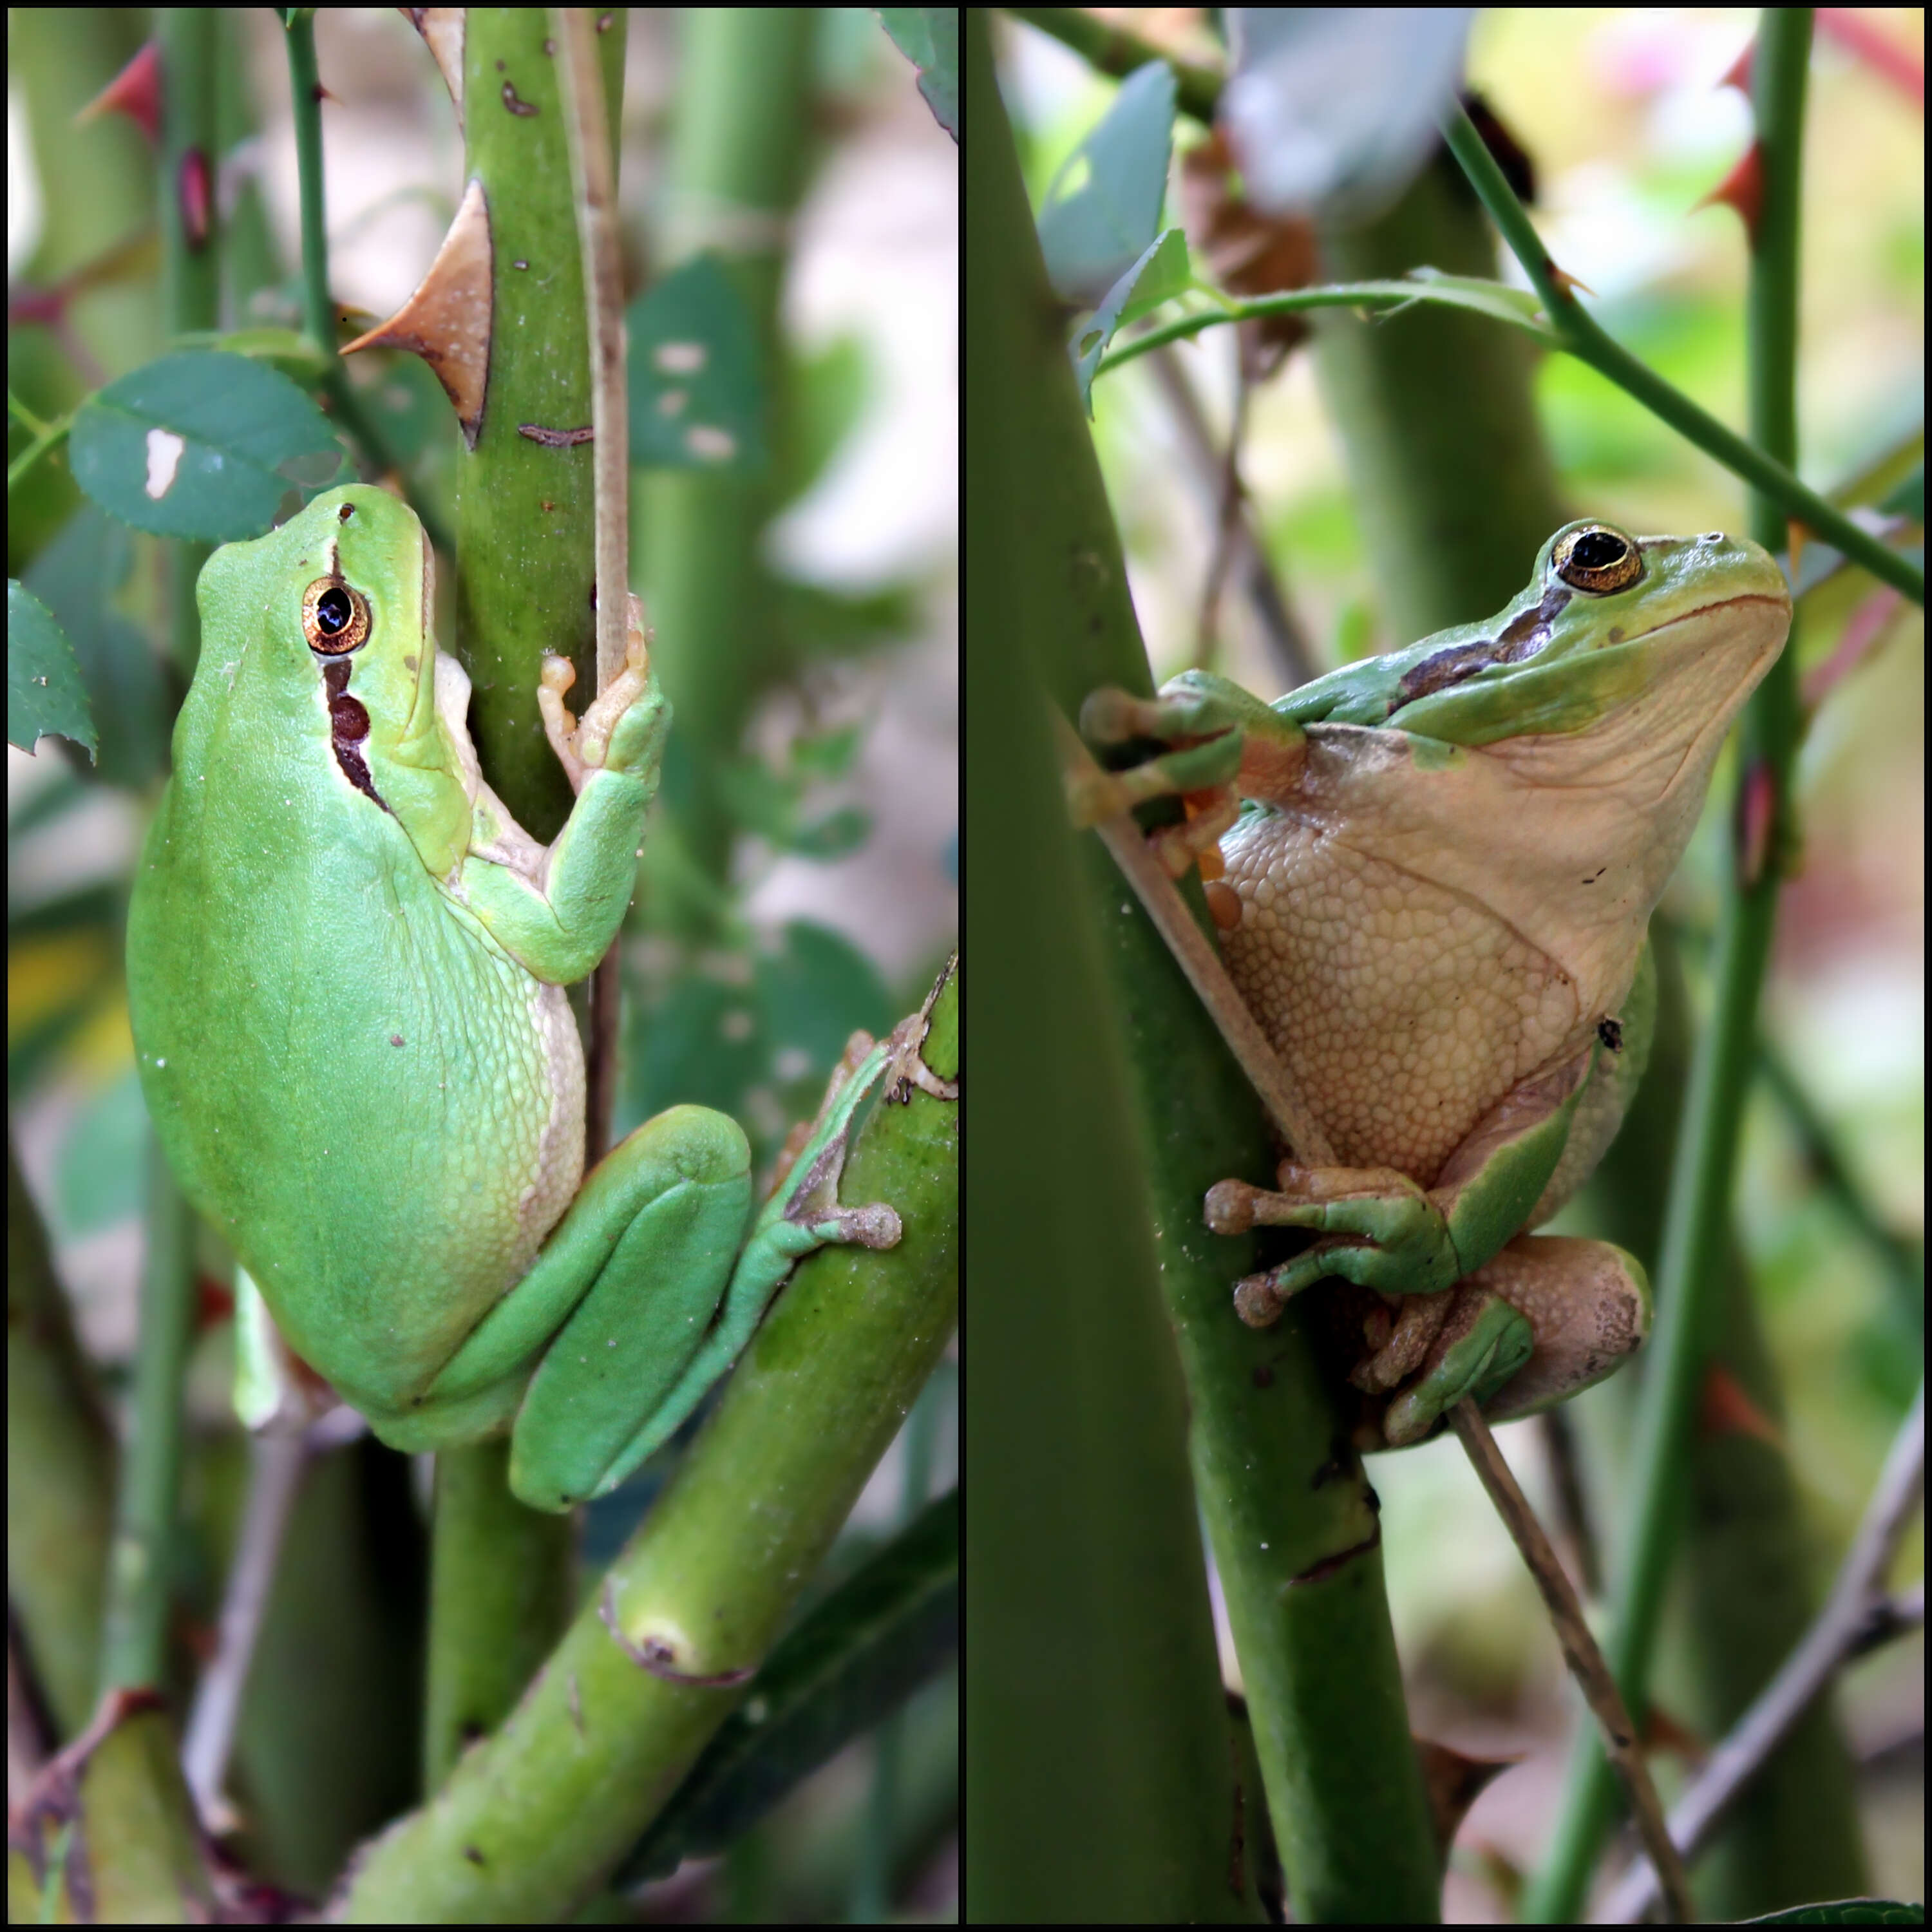
<path fill-rule="evenodd" d="M 1095 742 L 1167 746 L 1111 777 L 1111 810 L 1188 800 L 1153 838 L 1177 875 L 1221 873 L 1229 976 L 1333 1144 L 1333 1167 L 1225 1180 L 1206 1211 L 1316 1236 L 1238 1285 L 1256 1325 L 1354 1285 L 1325 1321 L 1366 1443 L 1420 1441 L 1464 1395 L 1548 1406 L 1648 1333 L 1633 1256 L 1524 1231 L 1617 1132 L 1650 1051 L 1650 912 L 1789 622 L 1754 543 L 1580 522 L 1488 622 L 1273 705 L 1208 672 L 1088 701 Z"/>

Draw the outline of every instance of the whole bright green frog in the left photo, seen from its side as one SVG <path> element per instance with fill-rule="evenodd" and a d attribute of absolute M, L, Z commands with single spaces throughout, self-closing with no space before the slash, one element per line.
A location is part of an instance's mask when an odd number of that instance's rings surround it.
<path fill-rule="evenodd" d="M 398 1449 L 508 1428 L 516 1493 L 568 1509 L 692 1412 L 800 1254 L 898 1238 L 891 1208 L 837 1202 L 885 1051 L 755 1219 L 746 1136 L 703 1107 L 583 1179 L 562 989 L 630 904 L 670 713 L 636 599 L 582 723 L 545 659 L 578 796 L 539 844 L 483 782 L 433 570 L 406 504 L 348 487 L 201 572 L 128 912 L 135 1055 L 189 1202 L 296 1354 Z"/>

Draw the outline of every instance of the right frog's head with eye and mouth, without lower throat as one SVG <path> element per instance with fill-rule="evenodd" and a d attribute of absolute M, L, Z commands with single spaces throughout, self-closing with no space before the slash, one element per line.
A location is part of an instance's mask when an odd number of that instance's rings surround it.
<path fill-rule="evenodd" d="M 1702 777 L 1789 626 L 1783 572 L 1748 537 L 1567 524 L 1505 611 L 1403 653 L 1387 723 L 1461 746 L 1578 740 L 1592 784 L 1605 759 L 1619 784 L 1636 767 Z"/>

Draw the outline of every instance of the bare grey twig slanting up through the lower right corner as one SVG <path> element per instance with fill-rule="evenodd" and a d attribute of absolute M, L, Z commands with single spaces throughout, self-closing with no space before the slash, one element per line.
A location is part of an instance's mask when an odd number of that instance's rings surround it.
<path fill-rule="evenodd" d="M 1671 1812 L 1671 1839 L 1694 1859 L 1710 1843 L 1739 1793 L 1764 1768 L 1770 1754 L 1791 1735 L 1839 1665 L 1857 1656 L 1874 1621 L 1901 1627 L 1901 1605 L 1886 1596 L 1884 1577 L 1911 1524 L 1926 1472 L 1926 1385 L 1918 1383 L 1911 1414 L 1886 1457 L 1872 1501 L 1859 1534 L 1851 1540 L 1832 1584 L 1832 1596 L 1818 1611 L 1803 1642 L 1783 1669 L 1764 1687 L 1731 1735 L 1710 1754 L 1690 1789 Z M 1922 1615 L 1922 1607 L 1920 1607 Z M 1634 1924 L 1656 1897 L 1656 1874 L 1644 1866 L 1627 1872 L 1602 1915 L 1605 1924 Z"/>

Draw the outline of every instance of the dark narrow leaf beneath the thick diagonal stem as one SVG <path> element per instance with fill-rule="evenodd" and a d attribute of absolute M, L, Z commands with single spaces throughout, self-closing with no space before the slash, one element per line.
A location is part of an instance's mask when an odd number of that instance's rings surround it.
<path fill-rule="evenodd" d="M 618 1882 L 723 1851 L 939 1669 L 958 1648 L 958 1548 L 952 1490 L 815 1605 L 765 1660 Z"/>

